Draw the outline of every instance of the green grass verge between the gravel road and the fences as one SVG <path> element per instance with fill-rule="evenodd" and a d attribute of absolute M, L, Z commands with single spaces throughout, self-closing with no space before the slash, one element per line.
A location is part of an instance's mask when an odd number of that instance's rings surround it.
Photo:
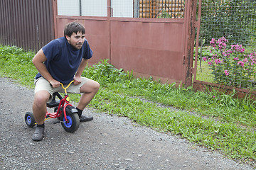
<path fill-rule="evenodd" d="M 31 62 L 33 55 L 17 47 L 0 46 L 0 76 L 32 88 L 37 73 Z M 90 103 L 97 111 L 126 116 L 255 166 L 256 110 L 249 96 L 238 99 L 233 97 L 235 91 L 230 95 L 216 90 L 193 91 L 192 87 L 175 88 L 175 84 L 135 78 L 107 60 L 87 67 L 82 75 L 101 84 Z M 73 101 L 79 97 L 70 95 Z"/>

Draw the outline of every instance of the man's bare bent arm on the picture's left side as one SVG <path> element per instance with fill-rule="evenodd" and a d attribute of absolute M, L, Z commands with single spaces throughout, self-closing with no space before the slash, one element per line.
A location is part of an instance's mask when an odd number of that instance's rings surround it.
<path fill-rule="evenodd" d="M 53 87 L 60 86 L 60 82 L 53 79 L 53 77 L 50 75 L 48 70 L 46 69 L 46 65 L 43 63 L 47 60 L 46 55 L 43 54 L 43 50 L 39 50 L 38 53 L 36 53 L 35 57 L 33 57 L 33 64 L 35 65 L 36 69 L 40 74 L 49 81 L 50 84 L 52 84 Z"/>

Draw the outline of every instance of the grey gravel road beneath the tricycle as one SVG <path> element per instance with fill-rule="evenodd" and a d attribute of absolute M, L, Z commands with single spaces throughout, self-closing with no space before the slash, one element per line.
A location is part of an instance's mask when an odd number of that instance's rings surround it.
<path fill-rule="evenodd" d="M 127 118 L 96 113 L 74 133 L 46 121 L 43 141 L 33 142 L 24 114 L 33 89 L 0 77 L 0 169 L 252 169 Z"/>

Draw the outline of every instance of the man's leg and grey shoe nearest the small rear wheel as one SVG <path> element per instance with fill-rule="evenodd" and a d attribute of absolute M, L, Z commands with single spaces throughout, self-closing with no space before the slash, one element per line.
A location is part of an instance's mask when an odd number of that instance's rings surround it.
<path fill-rule="evenodd" d="M 38 91 L 34 96 L 33 115 L 36 120 L 36 130 L 32 136 L 32 140 L 43 140 L 44 119 L 46 116 L 46 103 L 50 98 L 48 91 Z"/>

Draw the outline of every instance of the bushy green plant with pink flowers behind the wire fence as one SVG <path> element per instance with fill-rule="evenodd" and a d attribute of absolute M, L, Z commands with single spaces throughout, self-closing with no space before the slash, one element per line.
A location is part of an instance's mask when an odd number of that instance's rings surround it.
<path fill-rule="evenodd" d="M 255 78 L 256 52 L 245 53 L 242 45 L 230 45 L 228 49 L 228 40 L 220 38 L 210 41 L 210 54 L 203 57 L 212 69 L 214 81 L 218 84 L 235 86 L 238 88 L 247 88 Z"/>

